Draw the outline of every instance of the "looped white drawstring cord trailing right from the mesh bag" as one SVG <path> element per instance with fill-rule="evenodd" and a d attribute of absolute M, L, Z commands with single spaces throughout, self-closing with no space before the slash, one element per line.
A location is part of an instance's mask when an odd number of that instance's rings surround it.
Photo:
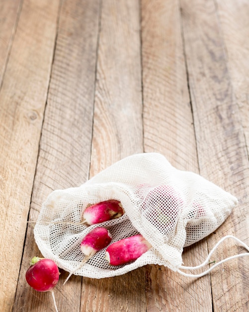
<path fill-rule="evenodd" d="M 232 235 L 227 235 L 227 236 L 224 236 L 215 246 L 214 248 L 210 251 L 210 253 L 208 254 L 207 256 L 207 259 L 201 263 L 200 265 L 198 266 L 195 266 L 195 267 L 185 267 L 185 266 L 180 266 L 179 269 L 177 270 L 178 273 L 180 273 L 181 275 L 183 276 L 186 276 L 186 277 L 195 277 L 195 278 L 198 278 L 198 277 L 202 277 L 206 274 L 208 274 L 210 271 L 212 271 L 214 268 L 216 268 L 217 266 L 221 265 L 222 263 L 224 262 L 227 262 L 229 260 L 232 260 L 232 259 L 235 259 L 235 258 L 240 258 L 240 257 L 245 257 L 245 256 L 249 256 L 249 252 L 248 253 L 244 253 L 244 254 L 238 254 L 238 255 L 235 255 L 235 256 L 231 256 L 231 257 L 228 257 L 226 259 L 223 259 L 221 261 L 219 261 L 218 263 L 216 263 L 215 265 L 213 265 L 211 268 L 209 268 L 208 270 L 200 273 L 200 274 L 187 274 L 187 273 L 184 273 L 182 272 L 181 270 L 197 270 L 203 266 L 205 266 L 206 264 L 209 263 L 209 259 L 211 257 L 211 255 L 213 254 L 213 252 L 217 249 L 217 247 L 227 238 L 233 238 L 234 240 L 236 240 L 239 244 L 241 244 L 245 249 L 247 249 L 249 251 L 249 246 L 247 244 L 245 244 L 243 241 L 241 241 L 239 238 L 235 237 L 235 236 L 232 236 Z M 181 270 L 180 270 L 181 269 Z"/>

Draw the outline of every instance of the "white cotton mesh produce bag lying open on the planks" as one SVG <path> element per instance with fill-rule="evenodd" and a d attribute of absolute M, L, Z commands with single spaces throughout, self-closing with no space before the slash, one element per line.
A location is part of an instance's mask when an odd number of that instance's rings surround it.
<path fill-rule="evenodd" d="M 82 223 L 89 204 L 110 199 L 121 202 L 125 212 L 121 217 L 100 224 Z M 174 168 L 161 154 L 135 154 L 80 187 L 53 191 L 42 205 L 34 236 L 44 257 L 76 275 L 104 278 L 159 264 L 188 276 L 181 270 L 193 267 L 182 266 L 183 247 L 217 229 L 237 203 L 236 197 L 200 175 Z M 111 243 L 140 233 L 152 247 L 137 260 L 118 266 L 105 259 L 106 247 L 81 266 L 81 242 L 98 226 L 108 229 Z M 212 252 L 195 268 L 207 264 Z"/>

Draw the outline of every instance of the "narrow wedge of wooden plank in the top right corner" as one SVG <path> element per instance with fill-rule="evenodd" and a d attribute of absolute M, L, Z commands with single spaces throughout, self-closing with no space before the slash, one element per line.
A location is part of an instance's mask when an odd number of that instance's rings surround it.
<path fill-rule="evenodd" d="M 249 2 L 216 0 L 236 103 L 249 149 Z"/>

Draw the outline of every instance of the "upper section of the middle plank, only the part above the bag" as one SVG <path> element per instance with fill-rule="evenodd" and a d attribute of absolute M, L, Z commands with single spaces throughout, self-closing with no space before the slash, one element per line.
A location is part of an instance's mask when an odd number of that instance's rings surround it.
<path fill-rule="evenodd" d="M 143 152 L 139 1 L 102 5 L 90 175 Z"/>

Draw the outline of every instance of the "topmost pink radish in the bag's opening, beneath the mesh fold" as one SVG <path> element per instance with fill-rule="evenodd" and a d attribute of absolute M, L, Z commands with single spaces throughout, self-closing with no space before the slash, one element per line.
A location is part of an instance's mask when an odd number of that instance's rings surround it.
<path fill-rule="evenodd" d="M 111 199 L 88 206 L 83 211 L 82 222 L 92 225 L 119 218 L 123 214 L 120 201 Z"/>

